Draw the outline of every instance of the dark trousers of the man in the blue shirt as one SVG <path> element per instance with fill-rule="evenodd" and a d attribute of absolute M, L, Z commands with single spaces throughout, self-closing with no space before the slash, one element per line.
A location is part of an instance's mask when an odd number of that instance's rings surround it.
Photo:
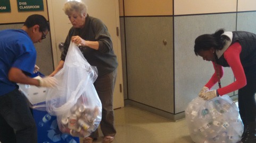
<path fill-rule="evenodd" d="M 0 141 L 37 143 L 37 128 L 26 97 L 15 89 L 0 96 Z"/>

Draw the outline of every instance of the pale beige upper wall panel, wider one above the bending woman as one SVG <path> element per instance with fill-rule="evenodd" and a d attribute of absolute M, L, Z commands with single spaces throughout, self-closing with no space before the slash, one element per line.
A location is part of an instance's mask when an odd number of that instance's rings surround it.
<path fill-rule="evenodd" d="M 174 0 L 174 15 L 236 12 L 236 1 Z"/>

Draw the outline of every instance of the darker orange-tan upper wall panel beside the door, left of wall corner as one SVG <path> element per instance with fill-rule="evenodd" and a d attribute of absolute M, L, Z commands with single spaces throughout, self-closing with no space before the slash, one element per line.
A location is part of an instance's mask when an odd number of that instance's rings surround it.
<path fill-rule="evenodd" d="M 172 0 L 124 1 L 125 16 L 172 15 Z"/>

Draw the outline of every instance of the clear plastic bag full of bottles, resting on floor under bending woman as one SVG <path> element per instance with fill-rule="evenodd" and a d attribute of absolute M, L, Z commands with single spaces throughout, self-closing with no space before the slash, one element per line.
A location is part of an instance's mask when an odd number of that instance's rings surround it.
<path fill-rule="evenodd" d="M 236 104 L 228 95 L 203 100 L 196 97 L 185 110 L 191 138 L 196 143 L 236 143 L 243 123 Z"/>

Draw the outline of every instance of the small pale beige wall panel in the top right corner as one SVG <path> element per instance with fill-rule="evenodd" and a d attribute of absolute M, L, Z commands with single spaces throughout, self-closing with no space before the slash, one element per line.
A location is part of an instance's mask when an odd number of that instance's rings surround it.
<path fill-rule="evenodd" d="M 238 0 L 237 11 L 255 11 L 256 1 L 255 0 Z"/>

